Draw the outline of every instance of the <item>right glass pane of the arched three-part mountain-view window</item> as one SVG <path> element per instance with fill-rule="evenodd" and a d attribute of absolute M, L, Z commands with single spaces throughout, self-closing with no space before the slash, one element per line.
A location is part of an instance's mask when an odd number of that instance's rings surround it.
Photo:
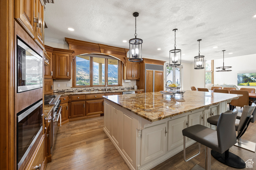
<path fill-rule="evenodd" d="M 108 84 L 118 85 L 118 60 L 108 59 Z"/>

